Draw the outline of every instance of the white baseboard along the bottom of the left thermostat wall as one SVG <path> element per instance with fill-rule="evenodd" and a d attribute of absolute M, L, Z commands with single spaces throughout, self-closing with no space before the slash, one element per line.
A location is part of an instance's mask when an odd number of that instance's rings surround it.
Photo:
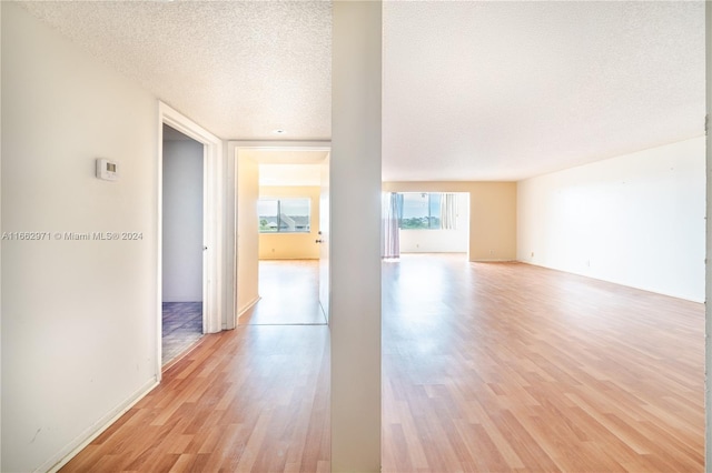
<path fill-rule="evenodd" d="M 57 455 L 53 455 L 47 462 L 44 462 L 36 471 L 55 473 L 65 466 L 71 459 L 77 456 L 79 452 L 85 450 L 87 445 L 93 442 L 99 435 L 101 435 L 107 429 L 109 429 L 119 417 L 126 414 L 131 407 L 134 407 L 140 400 L 146 397 L 156 386 L 158 386 L 158 378 L 149 380 L 146 384 L 139 388 L 134 394 L 131 394 L 126 401 L 120 403 L 116 409 L 111 410 L 107 415 L 99 419 L 91 424 L 87 430 L 77 435 L 65 449 Z M 80 442 L 80 439 L 86 439 Z M 80 442 L 80 443 L 79 443 Z M 76 445 L 76 446 L 72 446 Z"/>

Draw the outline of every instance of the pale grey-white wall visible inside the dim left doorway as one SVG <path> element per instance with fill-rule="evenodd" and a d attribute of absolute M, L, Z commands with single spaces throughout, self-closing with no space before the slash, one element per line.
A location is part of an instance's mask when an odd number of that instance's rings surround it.
<path fill-rule="evenodd" d="M 202 301 L 202 144 L 164 142 L 164 302 Z"/>

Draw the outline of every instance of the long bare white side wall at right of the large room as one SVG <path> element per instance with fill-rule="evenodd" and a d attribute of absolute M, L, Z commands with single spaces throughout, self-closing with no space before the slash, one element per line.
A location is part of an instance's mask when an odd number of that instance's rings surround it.
<path fill-rule="evenodd" d="M 704 300 L 704 138 L 518 183 L 517 259 Z"/>

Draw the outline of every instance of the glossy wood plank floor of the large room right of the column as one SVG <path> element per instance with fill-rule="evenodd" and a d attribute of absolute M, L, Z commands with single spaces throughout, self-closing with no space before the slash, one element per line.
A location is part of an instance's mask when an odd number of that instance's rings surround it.
<path fill-rule="evenodd" d="M 702 304 L 413 255 L 384 314 L 386 472 L 703 471 Z"/>

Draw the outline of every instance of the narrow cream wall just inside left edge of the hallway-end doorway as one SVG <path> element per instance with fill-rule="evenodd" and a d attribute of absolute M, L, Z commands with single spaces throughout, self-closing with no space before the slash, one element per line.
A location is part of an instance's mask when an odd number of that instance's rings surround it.
<path fill-rule="evenodd" d="M 259 300 L 259 164 L 237 155 L 237 314 Z"/>

